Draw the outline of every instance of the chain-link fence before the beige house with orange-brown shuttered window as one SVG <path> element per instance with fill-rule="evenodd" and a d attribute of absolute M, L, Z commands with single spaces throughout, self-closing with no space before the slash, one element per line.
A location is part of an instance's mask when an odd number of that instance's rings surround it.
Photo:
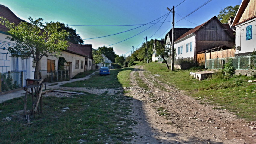
<path fill-rule="evenodd" d="M 68 70 L 40 70 L 40 74 L 44 78 L 44 82 L 68 81 L 70 79 Z"/>

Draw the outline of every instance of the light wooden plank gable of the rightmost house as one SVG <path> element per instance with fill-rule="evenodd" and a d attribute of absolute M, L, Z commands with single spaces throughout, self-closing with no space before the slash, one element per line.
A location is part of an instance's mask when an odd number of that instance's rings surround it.
<path fill-rule="evenodd" d="M 250 0 L 247 7 L 245 8 L 245 11 L 243 12 L 239 22 L 242 22 L 250 17 L 253 17 L 256 15 L 256 0 Z"/>

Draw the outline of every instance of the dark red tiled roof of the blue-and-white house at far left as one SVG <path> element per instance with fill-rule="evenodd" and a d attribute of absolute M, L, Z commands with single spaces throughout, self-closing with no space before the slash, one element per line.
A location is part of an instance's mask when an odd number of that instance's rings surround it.
<path fill-rule="evenodd" d="M 8 7 L 0 5 L 0 16 L 7 18 L 11 23 L 19 24 L 21 21 Z M 8 29 L 4 25 L 0 25 L 0 31 L 7 32 Z"/>

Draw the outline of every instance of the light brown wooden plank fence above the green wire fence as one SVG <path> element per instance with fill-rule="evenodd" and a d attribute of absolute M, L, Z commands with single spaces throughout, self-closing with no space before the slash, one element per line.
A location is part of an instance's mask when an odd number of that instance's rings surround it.
<path fill-rule="evenodd" d="M 206 59 L 217 59 L 217 58 L 226 58 L 234 57 L 236 49 L 226 49 L 221 51 L 214 51 L 206 53 Z"/>

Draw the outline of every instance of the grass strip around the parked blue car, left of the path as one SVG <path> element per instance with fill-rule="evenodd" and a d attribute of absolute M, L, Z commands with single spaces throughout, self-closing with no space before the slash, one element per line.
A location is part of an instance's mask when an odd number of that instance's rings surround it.
<path fill-rule="evenodd" d="M 82 81 L 75 81 L 71 83 L 66 83 L 61 86 L 64 87 L 89 87 L 89 88 L 119 88 L 122 87 L 122 85 L 129 85 L 129 76 L 126 76 L 126 74 L 129 74 L 133 68 L 123 68 L 123 69 L 111 69 L 110 75 L 102 75 L 100 76 L 98 73 L 95 75 L 92 75 L 91 78 L 87 80 Z M 128 72 L 126 72 L 126 70 Z M 119 79 L 117 78 L 118 73 L 124 73 L 121 74 Z"/>

